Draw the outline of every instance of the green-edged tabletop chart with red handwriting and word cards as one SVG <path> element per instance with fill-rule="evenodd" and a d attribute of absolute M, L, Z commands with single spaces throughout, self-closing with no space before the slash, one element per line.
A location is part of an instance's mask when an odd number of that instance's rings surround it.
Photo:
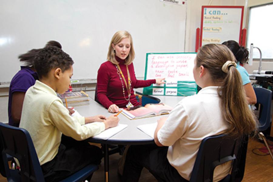
<path fill-rule="evenodd" d="M 144 79 L 165 78 L 165 84 L 143 88 L 144 95 L 191 96 L 197 93 L 193 68 L 196 53 L 147 53 Z"/>

